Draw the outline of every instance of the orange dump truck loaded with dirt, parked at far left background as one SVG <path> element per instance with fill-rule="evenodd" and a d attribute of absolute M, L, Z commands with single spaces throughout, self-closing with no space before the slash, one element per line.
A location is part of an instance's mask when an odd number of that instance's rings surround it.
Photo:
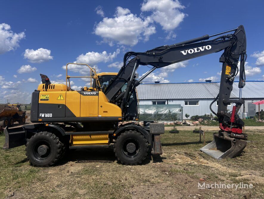
<path fill-rule="evenodd" d="M 22 111 L 19 104 L 0 105 L 0 127 L 11 127 L 14 122 L 23 125 L 26 119 L 26 111 Z"/>

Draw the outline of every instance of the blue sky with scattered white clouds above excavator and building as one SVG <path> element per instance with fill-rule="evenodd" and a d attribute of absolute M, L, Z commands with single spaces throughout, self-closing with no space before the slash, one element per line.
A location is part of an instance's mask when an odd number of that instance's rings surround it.
<path fill-rule="evenodd" d="M 247 80 L 264 80 L 264 1 L 2 1 L 0 103 L 28 103 L 46 74 L 65 81 L 63 66 L 83 62 L 118 72 L 127 51 L 144 52 L 244 25 Z M 222 52 L 157 69 L 145 83 L 219 81 Z M 140 66 L 144 74 L 148 68 Z M 71 75 L 85 75 L 70 67 Z M 75 89 L 87 82 L 74 80 Z"/>

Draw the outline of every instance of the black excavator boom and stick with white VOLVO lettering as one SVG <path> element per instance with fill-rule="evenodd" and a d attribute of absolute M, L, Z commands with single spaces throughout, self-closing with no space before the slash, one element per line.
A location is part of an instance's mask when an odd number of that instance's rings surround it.
<path fill-rule="evenodd" d="M 235 32 L 231 33 L 233 31 Z M 229 34 L 223 35 L 225 33 Z M 212 37 L 216 38 L 209 40 L 209 38 Z M 199 38 L 176 43 L 170 46 L 160 46 L 146 52 L 127 52 L 124 56 L 124 65 L 117 76 L 110 81 L 108 87 L 105 89 L 105 94 L 110 102 L 118 104 L 120 108 L 125 111 L 133 89 L 156 68 L 161 68 L 173 63 L 222 50 L 224 50 L 224 52 L 220 57 L 220 62 L 223 63 L 223 68 L 218 96 L 219 103 L 217 115 L 224 117 L 227 114 L 227 104 L 231 102 L 229 97 L 232 91 L 233 80 L 239 71 L 237 67 L 239 57 L 241 58 L 239 87 L 243 88 L 245 85 L 244 63 L 246 58 L 246 34 L 242 25 L 225 32 L 220 32 L 214 35 L 204 35 Z M 135 80 L 134 74 L 139 65 L 151 65 L 153 68 L 139 80 Z M 126 90 L 121 92 L 121 88 L 126 83 Z M 241 100 L 242 99 L 233 102 L 237 103 L 238 109 L 241 106 L 241 102 L 243 102 Z"/>

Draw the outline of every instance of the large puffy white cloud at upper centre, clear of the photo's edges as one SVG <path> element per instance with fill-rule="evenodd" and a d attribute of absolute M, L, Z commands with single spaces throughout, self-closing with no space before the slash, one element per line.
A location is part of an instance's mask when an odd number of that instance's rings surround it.
<path fill-rule="evenodd" d="M 156 32 L 151 25 L 152 19 L 141 19 L 127 8 L 117 7 L 113 18 L 103 18 L 95 25 L 94 33 L 103 38 L 104 43 L 113 46 L 114 43 L 129 46 L 136 45 L 139 40 L 148 41 L 149 36 Z"/>

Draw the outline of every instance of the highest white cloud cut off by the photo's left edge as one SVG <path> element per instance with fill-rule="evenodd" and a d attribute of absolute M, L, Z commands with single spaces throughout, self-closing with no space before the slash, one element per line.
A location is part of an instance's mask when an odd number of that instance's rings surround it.
<path fill-rule="evenodd" d="M 25 38 L 25 33 L 13 33 L 8 24 L 0 24 L 0 55 L 19 47 L 19 41 Z"/>

